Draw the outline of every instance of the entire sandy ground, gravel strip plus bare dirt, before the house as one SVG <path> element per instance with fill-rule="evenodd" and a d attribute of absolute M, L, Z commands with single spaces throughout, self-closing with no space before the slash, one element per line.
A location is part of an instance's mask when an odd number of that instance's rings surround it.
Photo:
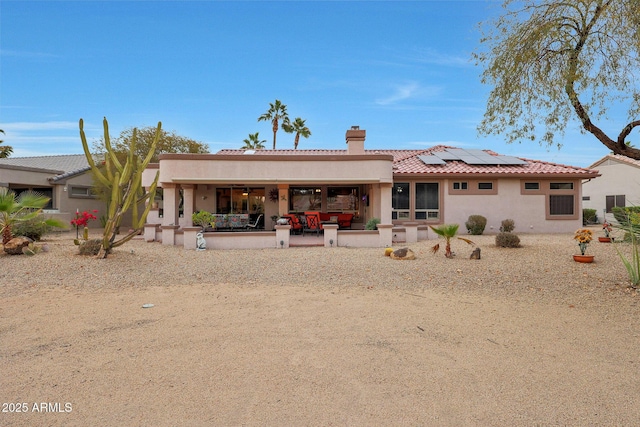
<path fill-rule="evenodd" d="M 571 234 L 465 235 L 480 260 L 434 235 L 412 261 L 142 240 L 100 260 L 71 234 L 0 254 L 2 426 L 640 420 L 640 295 L 597 239 L 592 264 Z"/>

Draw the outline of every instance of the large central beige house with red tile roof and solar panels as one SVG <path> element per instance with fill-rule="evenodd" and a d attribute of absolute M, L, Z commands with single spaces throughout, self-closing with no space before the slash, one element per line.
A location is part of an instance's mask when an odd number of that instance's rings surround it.
<path fill-rule="evenodd" d="M 417 227 L 425 236 L 428 225 L 442 223 L 458 223 L 464 234 L 470 215 L 487 218 L 487 233 L 498 232 L 504 219 L 515 221 L 517 233 L 571 233 L 582 225 L 582 182 L 599 176 L 596 170 L 487 150 L 365 150 L 364 141 L 365 131 L 354 126 L 346 132 L 346 150 L 161 155 L 143 176 L 148 187 L 159 172 L 164 194 L 162 217 L 152 212 L 149 222 L 159 224 L 164 244 L 185 247 L 193 242 L 181 233 L 193 231 L 191 215 L 199 210 L 263 214 L 266 230 L 275 227 L 272 216 L 287 213 L 352 213 L 352 229 L 339 230 L 331 243 L 339 246 L 359 244 L 352 235 L 374 217 L 388 236 L 363 245 L 391 244 L 391 230 L 413 236 Z"/>

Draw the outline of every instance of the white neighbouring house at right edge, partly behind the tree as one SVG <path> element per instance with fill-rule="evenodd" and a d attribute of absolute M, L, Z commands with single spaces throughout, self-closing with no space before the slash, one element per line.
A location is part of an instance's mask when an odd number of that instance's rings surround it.
<path fill-rule="evenodd" d="M 583 184 L 582 206 L 595 209 L 598 221 L 614 221 L 611 209 L 616 206 L 640 205 L 640 160 L 609 154 L 592 164 L 600 177 Z"/>

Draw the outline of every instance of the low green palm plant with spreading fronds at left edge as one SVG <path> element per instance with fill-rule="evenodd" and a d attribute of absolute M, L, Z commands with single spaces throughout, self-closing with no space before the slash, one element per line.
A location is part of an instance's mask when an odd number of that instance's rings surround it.
<path fill-rule="evenodd" d="M 16 193 L 6 187 L 0 187 L 0 233 L 2 244 L 6 244 L 13 237 L 11 227 L 20 221 L 37 218 L 42 209 L 49 203 L 49 197 L 37 191 L 24 191 L 16 197 Z M 65 228 L 64 223 L 57 219 L 48 218 L 43 222 L 51 227 Z"/>

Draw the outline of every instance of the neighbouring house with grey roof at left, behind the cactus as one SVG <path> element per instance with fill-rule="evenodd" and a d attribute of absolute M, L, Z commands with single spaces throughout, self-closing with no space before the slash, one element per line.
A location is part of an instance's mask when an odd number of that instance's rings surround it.
<path fill-rule="evenodd" d="M 45 214 L 69 223 L 76 210 L 98 210 L 104 214 L 104 203 L 91 194 L 92 178 L 84 154 L 0 159 L 0 187 L 16 194 L 34 190 L 51 200 Z M 90 227 L 100 227 L 91 221 Z"/>

